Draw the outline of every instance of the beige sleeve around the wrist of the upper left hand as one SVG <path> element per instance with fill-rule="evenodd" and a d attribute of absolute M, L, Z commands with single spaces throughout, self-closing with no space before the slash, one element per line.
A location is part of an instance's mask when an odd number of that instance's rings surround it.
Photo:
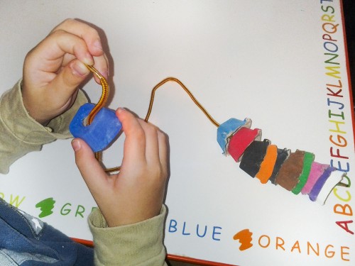
<path fill-rule="evenodd" d="M 0 173 L 8 173 L 10 165 L 19 157 L 40 150 L 45 143 L 71 138 L 70 121 L 85 102 L 87 98 L 80 91 L 68 111 L 53 118 L 48 126 L 42 126 L 28 115 L 23 106 L 21 80 L 18 81 L 0 99 Z"/>

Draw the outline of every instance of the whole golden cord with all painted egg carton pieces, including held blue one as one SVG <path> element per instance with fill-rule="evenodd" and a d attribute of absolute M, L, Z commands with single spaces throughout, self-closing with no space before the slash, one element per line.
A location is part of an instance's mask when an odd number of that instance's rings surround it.
<path fill-rule="evenodd" d="M 106 79 L 94 67 L 87 67 L 100 79 L 102 96 L 96 105 L 84 104 L 80 107 L 70 123 L 70 132 L 75 138 L 85 140 L 92 150 L 99 154 L 119 134 L 121 122 L 113 110 L 104 108 L 109 95 Z M 249 118 L 245 118 L 244 121 L 230 118 L 222 124 L 217 123 L 195 99 L 190 90 L 175 77 L 165 78 L 153 87 L 151 101 L 144 121 L 147 122 L 151 115 L 156 89 L 166 82 L 180 84 L 214 126 L 217 126 L 217 142 L 223 153 L 231 155 L 236 162 L 240 162 L 241 170 L 244 170 L 251 177 L 257 177 L 261 183 L 266 184 L 270 181 L 293 192 L 293 194 L 307 194 L 311 201 L 324 204 L 332 189 L 336 185 L 342 184 L 343 177 L 346 177 L 345 172 L 339 171 L 335 167 L 315 162 L 313 153 L 302 150 L 296 150 L 292 153 L 286 148 L 280 149 L 276 145 L 272 145 L 270 140 L 261 141 L 261 129 L 251 129 L 251 119 Z M 95 111 L 93 112 L 93 110 Z M 84 125 L 86 117 L 92 118 L 89 120 L 92 120 L 93 123 Z M 100 155 L 97 155 L 97 158 L 101 160 Z M 114 167 L 105 171 L 115 172 L 119 169 L 120 167 Z M 347 179 L 349 185 L 345 186 L 349 187 L 350 180 Z"/>

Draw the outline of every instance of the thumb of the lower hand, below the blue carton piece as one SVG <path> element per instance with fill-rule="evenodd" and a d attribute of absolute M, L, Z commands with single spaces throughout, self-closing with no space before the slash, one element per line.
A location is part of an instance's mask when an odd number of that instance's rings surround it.
<path fill-rule="evenodd" d="M 93 196 L 102 194 L 102 190 L 107 184 L 107 174 L 102 169 L 92 152 L 92 149 L 79 138 L 72 140 L 72 148 L 75 152 L 75 163 L 84 178 L 87 187 Z"/>

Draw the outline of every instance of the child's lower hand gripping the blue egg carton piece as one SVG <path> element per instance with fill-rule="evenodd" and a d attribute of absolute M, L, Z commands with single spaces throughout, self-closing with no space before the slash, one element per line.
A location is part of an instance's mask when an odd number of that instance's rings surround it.
<path fill-rule="evenodd" d="M 104 172 L 91 148 L 72 140 L 77 167 L 110 227 L 157 216 L 168 176 L 165 134 L 129 111 L 118 109 L 116 114 L 126 135 L 119 174 Z"/>

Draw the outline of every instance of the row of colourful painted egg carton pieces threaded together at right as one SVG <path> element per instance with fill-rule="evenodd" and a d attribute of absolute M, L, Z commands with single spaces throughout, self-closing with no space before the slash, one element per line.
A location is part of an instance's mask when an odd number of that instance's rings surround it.
<path fill-rule="evenodd" d="M 239 167 L 262 184 L 271 182 L 293 194 L 308 195 L 311 201 L 325 204 L 346 172 L 315 161 L 313 153 L 278 148 L 261 140 L 261 129 L 251 129 L 251 119 L 230 118 L 217 128 L 217 142 L 224 155 L 231 155 Z"/>

